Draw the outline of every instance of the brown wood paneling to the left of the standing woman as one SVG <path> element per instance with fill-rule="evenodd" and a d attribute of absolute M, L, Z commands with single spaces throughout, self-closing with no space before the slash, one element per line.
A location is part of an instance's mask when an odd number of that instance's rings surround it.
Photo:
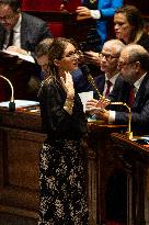
<path fill-rule="evenodd" d="M 0 224 L 37 224 L 39 149 L 46 135 L 38 133 L 36 116 L 32 127 L 22 113 L 4 114 L 1 124 L 5 127 L 0 126 Z"/>

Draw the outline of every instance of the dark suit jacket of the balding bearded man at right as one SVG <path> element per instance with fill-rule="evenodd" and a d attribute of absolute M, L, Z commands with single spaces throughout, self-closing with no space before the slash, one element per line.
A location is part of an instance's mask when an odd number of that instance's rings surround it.
<path fill-rule="evenodd" d="M 112 101 L 123 101 L 127 103 L 129 90 L 130 86 L 122 80 L 121 87 L 115 87 L 110 98 Z M 122 108 L 119 109 L 122 110 Z M 125 109 L 121 112 L 116 111 L 115 123 L 128 123 L 128 113 Z M 131 127 L 138 135 L 149 134 L 149 72 L 145 76 L 136 94 L 134 105 L 131 106 Z"/>

